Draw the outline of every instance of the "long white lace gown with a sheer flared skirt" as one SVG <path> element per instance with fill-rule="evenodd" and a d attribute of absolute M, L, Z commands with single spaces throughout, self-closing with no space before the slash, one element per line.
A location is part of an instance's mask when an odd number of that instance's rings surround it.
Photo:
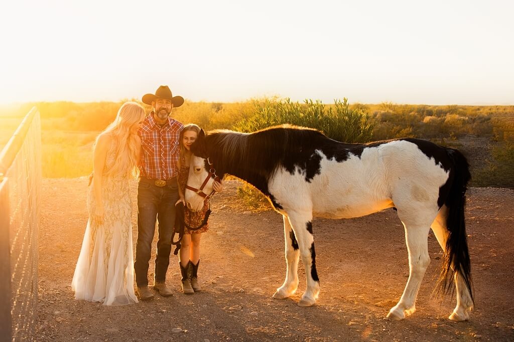
<path fill-rule="evenodd" d="M 115 144 L 107 151 L 104 173 L 115 163 Z M 103 177 L 104 220 L 91 220 L 96 203 L 93 184 L 89 186 L 87 221 L 71 289 L 75 299 L 103 302 L 104 305 L 137 303 L 134 294 L 132 251 L 132 200 L 126 177 Z"/>

